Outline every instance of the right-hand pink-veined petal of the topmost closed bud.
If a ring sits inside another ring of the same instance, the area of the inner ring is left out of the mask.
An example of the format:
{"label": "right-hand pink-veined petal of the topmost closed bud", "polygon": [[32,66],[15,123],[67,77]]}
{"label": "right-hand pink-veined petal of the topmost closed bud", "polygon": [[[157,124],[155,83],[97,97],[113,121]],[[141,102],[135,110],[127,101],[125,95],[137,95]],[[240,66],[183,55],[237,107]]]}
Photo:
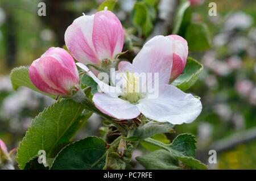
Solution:
{"label": "right-hand pink-veined petal of the topmost closed bud", "polygon": [[122,24],[113,12],[99,11],[94,16],[93,44],[98,58],[113,59],[123,49]]}

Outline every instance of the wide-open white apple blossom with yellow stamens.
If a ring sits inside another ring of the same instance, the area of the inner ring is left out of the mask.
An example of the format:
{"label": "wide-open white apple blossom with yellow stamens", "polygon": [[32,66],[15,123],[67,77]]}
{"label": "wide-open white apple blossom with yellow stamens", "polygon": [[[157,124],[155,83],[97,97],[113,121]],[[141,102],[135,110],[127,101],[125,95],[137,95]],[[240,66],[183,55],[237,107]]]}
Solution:
{"label": "wide-open white apple blossom with yellow stamens", "polygon": [[[133,64],[121,62],[118,68],[122,75],[121,82],[125,84],[120,87],[101,82],[85,65],[77,63],[103,91],[94,94],[95,106],[101,112],[119,120],[133,119],[141,113],[148,119],[168,121],[172,124],[191,123],[195,120],[202,109],[200,100],[192,94],[185,94],[175,86],[168,85],[175,52],[173,45],[170,37],[155,36],[143,46]],[[139,81],[137,75],[141,73],[158,73],[159,79],[154,77],[147,78],[146,82]],[[159,83],[158,90],[154,90],[159,92],[157,98],[150,98],[151,92],[148,89],[146,92],[137,89],[150,83]],[[111,89],[113,87],[115,89]],[[130,87],[132,89],[129,89]],[[107,88],[115,91],[108,91]]]}

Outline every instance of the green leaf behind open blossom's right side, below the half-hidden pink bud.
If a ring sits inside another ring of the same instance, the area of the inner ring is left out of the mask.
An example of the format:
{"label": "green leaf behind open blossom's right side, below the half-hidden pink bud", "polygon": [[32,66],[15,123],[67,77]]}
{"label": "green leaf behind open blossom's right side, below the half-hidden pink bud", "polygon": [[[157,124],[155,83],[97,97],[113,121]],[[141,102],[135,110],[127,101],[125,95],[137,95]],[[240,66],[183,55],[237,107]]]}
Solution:
{"label": "green leaf behind open blossom's right side, below the half-hidden pink bud", "polygon": [[187,64],[183,70],[184,73],[177,77],[171,84],[185,91],[197,81],[201,70],[203,70],[203,65],[195,59],[188,57]]}

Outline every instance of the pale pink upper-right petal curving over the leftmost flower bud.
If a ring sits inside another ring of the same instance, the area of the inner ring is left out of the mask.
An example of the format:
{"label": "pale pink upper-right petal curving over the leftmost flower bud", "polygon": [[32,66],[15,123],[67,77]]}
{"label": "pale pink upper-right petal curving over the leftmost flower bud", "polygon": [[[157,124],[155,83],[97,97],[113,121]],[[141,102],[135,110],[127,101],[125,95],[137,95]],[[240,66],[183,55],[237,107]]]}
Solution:
{"label": "pale pink upper-right petal curving over the leftmost flower bud", "polygon": [[73,57],[63,48],[51,47],[46,51],[46,53],[42,55],[42,57],[45,57],[45,56],[54,57],[57,61],[60,62],[61,65],[71,70],[72,73],[76,75],[77,78],[79,78],[79,74],[76,68],[75,61],[73,60]]}

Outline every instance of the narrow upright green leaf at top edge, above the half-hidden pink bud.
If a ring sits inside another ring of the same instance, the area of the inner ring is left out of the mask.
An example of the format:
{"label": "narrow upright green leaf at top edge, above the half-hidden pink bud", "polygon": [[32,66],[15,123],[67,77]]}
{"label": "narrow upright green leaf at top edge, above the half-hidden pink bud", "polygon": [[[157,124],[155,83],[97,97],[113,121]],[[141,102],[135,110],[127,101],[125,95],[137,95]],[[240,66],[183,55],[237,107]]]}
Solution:
{"label": "narrow upright green leaf at top edge, above the half-hidden pink bud", "polygon": [[[184,23],[186,24],[187,21],[190,21],[189,13],[187,16],[185,16],[186,11],[189,11],[189,7],[190,7],[189,1],[187,1],[187,0],[181,1],[180,5],[178,7],[178,10],[177,10],[177,14],[175,15],[175,21],[174,21],[174,27],[173,27],[172,34],[178,34],[181,29],[181,24],[184,25]],[[184,23],[183,23],[183,20],[184,20]]]}

